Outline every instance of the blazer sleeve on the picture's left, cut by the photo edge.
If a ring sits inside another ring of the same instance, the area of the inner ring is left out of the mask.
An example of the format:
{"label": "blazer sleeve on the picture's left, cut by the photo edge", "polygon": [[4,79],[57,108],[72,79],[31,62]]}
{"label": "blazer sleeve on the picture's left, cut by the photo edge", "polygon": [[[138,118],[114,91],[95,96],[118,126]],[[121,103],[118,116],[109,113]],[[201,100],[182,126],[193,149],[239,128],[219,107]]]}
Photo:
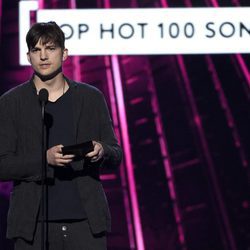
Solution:
{"label": "blazer sleeve on the picture's left, cut by the photo edge", "polygon": [[14,102],[13,98],[0,98],[0,180],[40,180],[41,152],[18,152]]}

